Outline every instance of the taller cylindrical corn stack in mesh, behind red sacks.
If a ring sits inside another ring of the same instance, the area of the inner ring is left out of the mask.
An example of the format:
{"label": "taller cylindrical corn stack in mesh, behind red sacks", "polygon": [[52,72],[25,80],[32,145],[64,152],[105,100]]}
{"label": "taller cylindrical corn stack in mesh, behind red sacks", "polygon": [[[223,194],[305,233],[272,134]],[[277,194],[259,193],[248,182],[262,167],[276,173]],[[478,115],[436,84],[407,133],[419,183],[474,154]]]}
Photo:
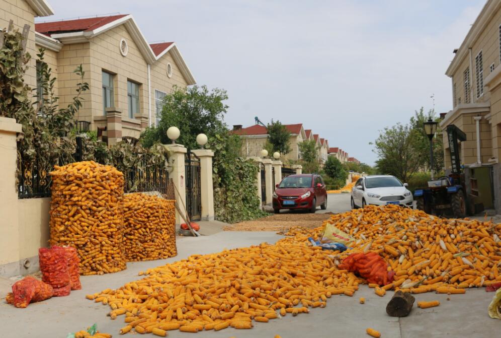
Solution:
{"label": "taller cylindrical corn stack in mesh, behind red sacks", "polygon": [[82,275],[125,269],[123,174],[94,161],[54,168],[50,245],[76,248]]}

